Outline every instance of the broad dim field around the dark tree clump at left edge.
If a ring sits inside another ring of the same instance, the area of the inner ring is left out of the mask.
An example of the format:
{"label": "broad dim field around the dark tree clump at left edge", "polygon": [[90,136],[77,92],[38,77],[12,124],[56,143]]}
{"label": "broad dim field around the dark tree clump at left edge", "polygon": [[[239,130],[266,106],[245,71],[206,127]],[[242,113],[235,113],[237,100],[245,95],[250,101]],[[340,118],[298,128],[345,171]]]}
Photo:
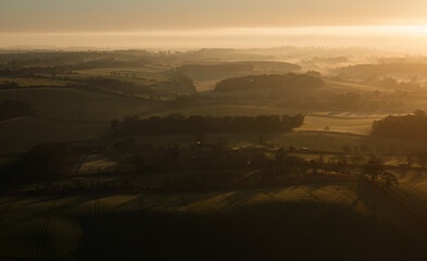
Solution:
{"label": "broad dim field around the dark tree clump at left edge", "polygon": [[0,153],[24,152],[45,141],[77,141],[109,130],[110,122],[159,108],[150,101],[70,88],[0,90],[0,102],[22,100],[36,115],[0,122]]}

